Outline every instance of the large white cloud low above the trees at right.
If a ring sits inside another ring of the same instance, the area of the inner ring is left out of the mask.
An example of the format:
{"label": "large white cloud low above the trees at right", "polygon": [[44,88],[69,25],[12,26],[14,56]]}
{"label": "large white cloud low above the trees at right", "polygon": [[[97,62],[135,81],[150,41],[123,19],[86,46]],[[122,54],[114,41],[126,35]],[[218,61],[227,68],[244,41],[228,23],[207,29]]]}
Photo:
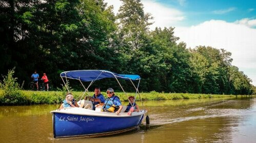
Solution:
{"label": "large white cloud low above the trees at right", "polygon": [[238,66],[256,85],[256,29],[210,20],[197,26],[176,27],[175,35],[186,42],[187,47],[206,45],[231,52],[232,65]]}

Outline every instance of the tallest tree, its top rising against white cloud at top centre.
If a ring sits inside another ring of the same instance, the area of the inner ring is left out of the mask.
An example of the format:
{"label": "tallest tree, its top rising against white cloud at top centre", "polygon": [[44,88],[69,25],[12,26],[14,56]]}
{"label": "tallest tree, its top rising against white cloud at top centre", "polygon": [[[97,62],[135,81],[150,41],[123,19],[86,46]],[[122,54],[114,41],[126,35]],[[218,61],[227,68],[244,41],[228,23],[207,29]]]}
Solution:
{"label": "tallest tree, its top rising against white cloud at top centre", "polygon": [[[129,45],[130,50],[140,49],[148,33],[149,22],[152,17],[143,10],[140,0],[121,0],[123,5],[119,9],[117,18],[120,20],[120,37]],[[127,50],[127,49],[126,49]]]}

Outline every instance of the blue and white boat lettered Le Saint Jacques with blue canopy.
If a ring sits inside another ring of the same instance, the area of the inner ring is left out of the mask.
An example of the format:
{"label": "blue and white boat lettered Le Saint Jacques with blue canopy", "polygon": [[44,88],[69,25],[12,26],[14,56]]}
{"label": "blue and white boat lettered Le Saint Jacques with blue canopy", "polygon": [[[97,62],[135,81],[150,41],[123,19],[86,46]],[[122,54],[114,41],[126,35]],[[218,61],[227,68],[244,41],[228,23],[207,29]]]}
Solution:
{"label": "blue and white boat lettered Le Saint Jacques with blue canopy", "polygon": [[[119,79],[130,81],[136,90],[135,99],[137,95],[140,96],[138,88],[141,78],[139,75],[120,75],[108,70],[72,70],[64,71],[60,76],[67,89],[68,86],[65,79],[66,81],[67,79],[80,81],[85,89],[82,97],[85,93],[89,94],[88,88],[94,81],[104,78],[114,78],[123,91],[124,89]],[[136,86],[134,81],[137,81]],[[83,82],[90,82],[90,84],[86,88]],[[126,94],[125,91],[124,93]],[[126,107],[124,106],[124,108]],[[114,112],[102,112],[101,110],[78,107],[53,110],[50,112],[52,114],[53,136],[54,138],[99,137],[123,133],[139,128],[144,115],[147,113],[147,110],[140,110],[140,112],[132,112],[131,115],[128,115],[122,111],[117,115]]]}

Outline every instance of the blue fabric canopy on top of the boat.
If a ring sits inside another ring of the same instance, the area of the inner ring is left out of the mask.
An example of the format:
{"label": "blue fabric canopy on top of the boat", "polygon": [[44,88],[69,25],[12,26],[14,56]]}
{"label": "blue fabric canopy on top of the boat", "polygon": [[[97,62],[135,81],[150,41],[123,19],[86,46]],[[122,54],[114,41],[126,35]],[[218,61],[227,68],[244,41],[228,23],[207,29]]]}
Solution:
{"label": "blue fabric canopy on top of the boat", "polygon": [[124,80],[140,80],[141,77],[139,75],[119,75],[112,73],[107,70],[72,70],[72,71],[64,71],[61,73],[61,77],[67,77],[70,79],[76,79],[81,81],[94,81],[100,80],[104,78],[119,78]]}

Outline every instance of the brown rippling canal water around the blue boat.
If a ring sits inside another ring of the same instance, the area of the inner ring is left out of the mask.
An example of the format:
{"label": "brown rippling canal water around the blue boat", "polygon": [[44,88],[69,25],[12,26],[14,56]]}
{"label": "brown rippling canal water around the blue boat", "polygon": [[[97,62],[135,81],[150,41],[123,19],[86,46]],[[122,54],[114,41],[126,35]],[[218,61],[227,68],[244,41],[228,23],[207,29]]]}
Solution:
{"label": "brown rippling canal water around the blue boat", "polygon": [[136,131],[75,139],[53,138],[49,112],[59,105],[1,106],[0,142],[256,142],[256,98],[148,101],[144,106],[150,126],[144,119]]}

